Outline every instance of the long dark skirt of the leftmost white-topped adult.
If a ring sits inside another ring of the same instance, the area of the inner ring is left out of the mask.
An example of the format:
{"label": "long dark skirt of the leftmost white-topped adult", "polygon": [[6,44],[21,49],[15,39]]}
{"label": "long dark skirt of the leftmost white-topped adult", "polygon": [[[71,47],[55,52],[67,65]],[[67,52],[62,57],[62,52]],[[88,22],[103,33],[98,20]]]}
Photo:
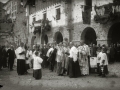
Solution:
{"label": "long dark skirt of the leftmost white-topped adult", "polygon": [[25,60],[18,59],[17,60],[17,73],[18,73],[18,75],[24,75],[25,72],[26,72]]}

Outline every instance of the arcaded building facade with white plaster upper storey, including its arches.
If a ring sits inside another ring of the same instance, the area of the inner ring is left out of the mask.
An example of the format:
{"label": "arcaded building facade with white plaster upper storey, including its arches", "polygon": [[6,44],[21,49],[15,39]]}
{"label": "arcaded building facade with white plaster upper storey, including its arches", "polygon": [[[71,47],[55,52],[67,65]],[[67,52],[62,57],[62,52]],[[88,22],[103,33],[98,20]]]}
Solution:
{"label": "arcaded building facade with white plaster upper storey, including its arches", "polygon": [[[28,0],[29,1],[29,0]],[[33,0],[34,1],[34,0]],[[109,21],[107,23],[95,22],[95,6],[107,5],[113,3],[114,0],[35,0],[35,7],[26,4],[26,9],[29,9],[29,43],[41,44],[42,40],[52,43],[53,41],[64,42],[67,38],[69,41],[74,41],[79,44],[80,40],[85,40],[87,44],[106,44],[117,43],[119,38],[114,32],[115,24],[119,26],[119,20]],[[83,23],[83,7],[87,6],[86,3],[91,3],[90,23]],[[60,9],[60,19],[57,20],[57,9]],[[28,11],[28,10],[26,10]],[[44,19],[44,14],[50,21],[51,30],[46,31],[44,36],[42,34],[33,34],[35,27],[33,22]],[[111,30],[112,29],[112,30]],[[119,32],[119,31],[118,31]],[[115,32],[114,32],[115,33]],[[114,36],[116,36],[114,38]],[[33,39],[33,37],[36,37]],[[47,37],[47,38],[46,38]]]}

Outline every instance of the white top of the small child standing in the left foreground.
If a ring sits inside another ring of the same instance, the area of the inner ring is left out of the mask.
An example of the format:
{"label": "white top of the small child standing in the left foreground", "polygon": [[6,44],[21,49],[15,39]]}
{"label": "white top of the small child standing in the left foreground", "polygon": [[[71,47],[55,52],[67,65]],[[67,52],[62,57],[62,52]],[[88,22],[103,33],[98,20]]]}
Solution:
{"label": "white top of the small child standing in the left foreground", "polygon": [[36,70],[36,69],[41,69],[41,63],[43,62],[43,59],[38,57],[38,56],[34,56],[33,57],[33,69]]}

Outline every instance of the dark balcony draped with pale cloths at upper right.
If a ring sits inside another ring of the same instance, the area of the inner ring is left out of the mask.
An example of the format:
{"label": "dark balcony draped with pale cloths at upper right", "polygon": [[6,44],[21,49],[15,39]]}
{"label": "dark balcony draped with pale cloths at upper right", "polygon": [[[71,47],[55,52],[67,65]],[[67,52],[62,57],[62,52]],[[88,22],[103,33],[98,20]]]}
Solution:
{"label": "dark balcony draped with pale cloths at upper right", "polygon": [[94,20],[99,23],[107,23],[109,20],[115,20],[120,18],[120,5],[114,3],[95,6],[96,15]]}

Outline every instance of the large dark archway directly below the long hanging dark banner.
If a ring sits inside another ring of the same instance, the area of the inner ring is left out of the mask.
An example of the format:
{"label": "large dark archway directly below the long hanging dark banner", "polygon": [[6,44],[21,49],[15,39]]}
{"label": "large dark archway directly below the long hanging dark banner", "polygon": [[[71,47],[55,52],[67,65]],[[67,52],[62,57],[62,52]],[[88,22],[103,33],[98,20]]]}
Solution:
{"label": "large dark archway directly below the long hanging dark banner", "polygon": [[85,41],[87,45],[93,43],[97,44],[95,30],[91,27],[87,27],[83,30],[81,39]]}

